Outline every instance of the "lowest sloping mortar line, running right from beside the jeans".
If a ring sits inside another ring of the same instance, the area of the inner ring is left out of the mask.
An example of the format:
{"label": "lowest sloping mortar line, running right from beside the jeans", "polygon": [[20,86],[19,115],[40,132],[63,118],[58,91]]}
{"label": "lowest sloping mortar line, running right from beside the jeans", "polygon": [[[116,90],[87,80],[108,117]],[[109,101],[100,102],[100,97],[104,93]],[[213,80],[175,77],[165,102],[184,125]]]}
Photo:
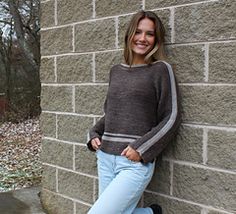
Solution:
{"label": "lowest sloping mortar line, running right from beside the jeans", "polygon": [[158,195],[158,196],[161,196],[161,197],[164,197],[164,198],[168,198],[168,199],[171,199],[171,200],[176,200],[176,201],[179,201],[179,202],[184,202],[184,203],[187,203],[187,204],[191,204],[191,205],[199,206],[199,207],[202,207],[202,208],[210,209],[212,211],[223,212],[225,214],[233,214],[233,213],[231,213],[229,211],[226,211],[226,210],[217,209],[217,208],[205,205],[205,204],[200,204],[200,203],[196,203],[196,202],[193,202],[193,201],[188,201],[186,199],[177,198],[175,196],[165,195],[163,193],[157,193],[157,192],[154,192],[154,191],[151,191],[151,190],[145,190],[145,192],[151,193],[153,195]]}

